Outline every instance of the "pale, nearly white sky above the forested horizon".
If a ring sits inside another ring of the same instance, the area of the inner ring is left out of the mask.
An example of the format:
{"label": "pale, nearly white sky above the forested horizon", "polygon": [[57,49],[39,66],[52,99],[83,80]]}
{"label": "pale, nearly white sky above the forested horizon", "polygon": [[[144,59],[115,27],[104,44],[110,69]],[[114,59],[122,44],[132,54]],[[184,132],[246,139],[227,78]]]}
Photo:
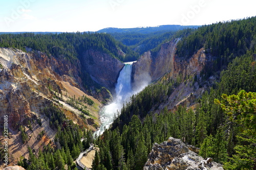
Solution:
{"label": "pale, nearly white sky above the forested horizon", "polygon": [[254,0],[0,0],[0,32],[208,25],[256,16]]}

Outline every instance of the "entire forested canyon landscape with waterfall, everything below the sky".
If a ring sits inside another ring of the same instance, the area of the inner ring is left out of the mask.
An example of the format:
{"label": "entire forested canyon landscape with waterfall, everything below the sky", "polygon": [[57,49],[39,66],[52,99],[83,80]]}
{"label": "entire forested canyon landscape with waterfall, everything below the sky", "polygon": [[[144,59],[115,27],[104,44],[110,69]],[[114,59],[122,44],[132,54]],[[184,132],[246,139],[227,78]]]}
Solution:
{"label": "entire forested canyon landscape with waterfall, everything below the sky", "polygon": [[9,165],[254,169],[255,25],[0,35]]}

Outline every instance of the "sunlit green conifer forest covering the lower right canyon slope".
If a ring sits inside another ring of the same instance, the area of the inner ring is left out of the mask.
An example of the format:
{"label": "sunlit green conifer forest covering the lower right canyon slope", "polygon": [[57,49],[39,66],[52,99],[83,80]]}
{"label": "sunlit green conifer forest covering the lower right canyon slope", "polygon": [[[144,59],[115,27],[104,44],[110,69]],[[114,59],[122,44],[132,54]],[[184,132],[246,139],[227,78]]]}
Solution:
{"label": "sunlit green conifer forest covering the lower right canyon slope", "polygon": [[[248,53],[234,59],[228,69],[222,71],[220,83],[216,88],[204,93],[202,99],[197,102],[195,111],[179,107],[176,112],[170,112],[165,108],[159,115],[147,112],[163,102],[177,84],[164,82],[146,87],[132,97],[131,102],[126,104],[115,120],[112,129],[105,131],[102,140],[97,141],[101,149],[97,167],[118,169],[125,166],[126,169],[142,169],[152,144],[173,136],[187,144],[200,147],[201,156],[212,157],[215,161],[224,163],[227,169],[255,168],[255,93],[239,92],[241,89],[255,92],[255,80],[255,56],[253,58],[253,55]],[[225,95],[221,98],[223,93]],[[227,96],[230,94],[238,95]],[[239,114],[236,112],[227,114],[226,110],[230,111],[228,107],[241,107],[230,100],[242,100],[241,95],[248,95],[244,99],[244,105],[248,105],[248,108],[244,109],[247,110],[241,111],[241,115],[236,115]],[[230,104],[224,106],[228,99]],[[241,120],[233,118],[237,116],[244,116],[247,126],[250,127],[248,132]],[[246,149],[246,154],[241,155]],[[112,155],[111,159],[108,158],[112,160],[112,166],[107,164],[110,161],[106,159],[108,154]],[[239,163],[240,160],[246,164]],[[97,167],[95,169],[100,169]]]}

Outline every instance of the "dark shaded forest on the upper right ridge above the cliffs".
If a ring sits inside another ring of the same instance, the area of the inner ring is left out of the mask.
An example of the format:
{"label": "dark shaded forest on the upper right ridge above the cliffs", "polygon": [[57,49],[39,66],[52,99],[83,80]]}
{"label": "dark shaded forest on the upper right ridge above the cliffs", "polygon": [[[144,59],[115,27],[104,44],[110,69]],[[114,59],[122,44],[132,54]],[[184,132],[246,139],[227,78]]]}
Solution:
{"label": "dark shaded forest on the upper right ridge above the cliffs", "polygon": [[202,26],[178,42],[176,54],[188,58],[204,47],[206,53],[218,57],[212,72],[218,71],[248,50],[255,53],[255,22],[255,17],[250,17]]}

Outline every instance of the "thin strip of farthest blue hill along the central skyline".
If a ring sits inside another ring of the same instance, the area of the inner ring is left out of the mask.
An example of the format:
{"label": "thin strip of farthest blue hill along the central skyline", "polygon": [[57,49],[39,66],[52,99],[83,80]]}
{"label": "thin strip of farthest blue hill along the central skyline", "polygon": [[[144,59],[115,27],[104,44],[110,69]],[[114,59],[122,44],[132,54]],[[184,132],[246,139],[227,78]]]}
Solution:
{"label": "thin strip of farthest blue hill along the central skyline", "polygon": [[99,33],[131,33],[137,32],[141,34],[150,34],[158,31],[178,31],[187,28],[199,28],[200,26],[180,26],[180,25],[163,25],[158,27],[142,27],[142,28],[105,28],[99,30]]}

